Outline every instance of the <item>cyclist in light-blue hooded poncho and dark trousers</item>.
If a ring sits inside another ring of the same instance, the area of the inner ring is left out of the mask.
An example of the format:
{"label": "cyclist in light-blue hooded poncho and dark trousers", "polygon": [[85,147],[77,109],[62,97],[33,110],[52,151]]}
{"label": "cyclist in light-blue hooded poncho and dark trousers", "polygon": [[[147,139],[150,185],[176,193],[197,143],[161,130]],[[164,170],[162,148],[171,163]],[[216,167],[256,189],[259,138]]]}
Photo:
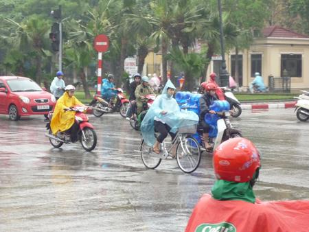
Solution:
{"label": "cyclist in light-blue hooded poncho and dark trousers", "polygon": [[[191,111],[180,111],[179,105],[173,98],[176,87],[170,80],[166,82],[162,94],[156,98],[141,122],[141,135],[154,152],[159,154],[160,143],[171,135],[172,140],[181,126],[198,123],[198,115]],[[155,131],[159,137],[155,138]]]}

